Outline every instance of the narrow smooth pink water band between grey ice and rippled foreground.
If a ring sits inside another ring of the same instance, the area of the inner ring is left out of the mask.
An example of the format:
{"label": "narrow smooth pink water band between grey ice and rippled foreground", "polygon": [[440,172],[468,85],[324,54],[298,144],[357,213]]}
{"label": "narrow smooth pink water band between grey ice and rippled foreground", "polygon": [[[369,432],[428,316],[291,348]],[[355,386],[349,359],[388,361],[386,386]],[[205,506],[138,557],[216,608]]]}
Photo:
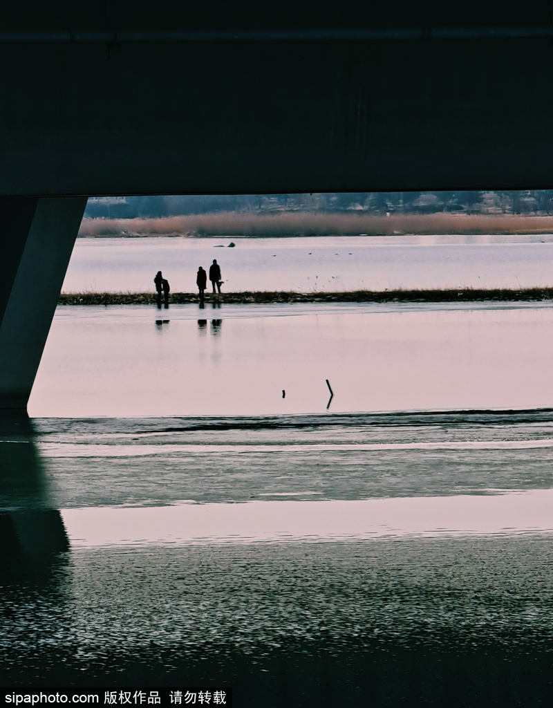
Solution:
{"label": "narrow smooth pink water band between grey ice and rippled foreground", "polygon": [[296,501],[293,492],[260,496],[264,501],[242,504],[64,509],[63,518],[76,548],[502,537],[553,530],[551,489],[355,501]]}

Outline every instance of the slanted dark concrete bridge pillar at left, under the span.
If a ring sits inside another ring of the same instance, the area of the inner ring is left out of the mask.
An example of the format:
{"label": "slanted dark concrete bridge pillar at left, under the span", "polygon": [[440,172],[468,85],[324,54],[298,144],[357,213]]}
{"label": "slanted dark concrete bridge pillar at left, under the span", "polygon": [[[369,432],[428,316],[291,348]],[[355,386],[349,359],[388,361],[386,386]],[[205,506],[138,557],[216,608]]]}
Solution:
{"label": "slanted dark concrete bridge pillar at left, under the span", "polygon": [[0,409],[26,409],[86,197],[0,199]]}

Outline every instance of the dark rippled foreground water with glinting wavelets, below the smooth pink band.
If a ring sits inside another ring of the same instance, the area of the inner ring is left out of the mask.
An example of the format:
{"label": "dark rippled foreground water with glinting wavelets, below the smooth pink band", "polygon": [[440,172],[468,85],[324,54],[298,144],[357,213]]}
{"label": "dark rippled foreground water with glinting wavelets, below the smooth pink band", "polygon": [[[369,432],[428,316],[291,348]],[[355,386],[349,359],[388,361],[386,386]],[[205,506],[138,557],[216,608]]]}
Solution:
{"label": "dark rippled foreground water with glinting wavelets, below the smooth pink band", "polygon": [[348,641],[553,649],[550,539],[416,539],[305,546],[96,549],[43,586],[4,577],[4,670],[20,651],[125,646],[255,654]]}

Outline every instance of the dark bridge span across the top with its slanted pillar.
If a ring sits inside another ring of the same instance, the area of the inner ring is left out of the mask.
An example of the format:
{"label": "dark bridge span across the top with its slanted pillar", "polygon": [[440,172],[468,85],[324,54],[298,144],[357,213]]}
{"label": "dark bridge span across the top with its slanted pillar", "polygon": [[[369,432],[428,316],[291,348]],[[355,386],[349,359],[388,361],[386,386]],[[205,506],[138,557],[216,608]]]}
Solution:
{"label": "dark bridge span across the top with its slanted pillar", "polygon": [[2,8],[0,406],[26,406],[87,195],[550,187],[553,25],[543,0],[520,16]]}

